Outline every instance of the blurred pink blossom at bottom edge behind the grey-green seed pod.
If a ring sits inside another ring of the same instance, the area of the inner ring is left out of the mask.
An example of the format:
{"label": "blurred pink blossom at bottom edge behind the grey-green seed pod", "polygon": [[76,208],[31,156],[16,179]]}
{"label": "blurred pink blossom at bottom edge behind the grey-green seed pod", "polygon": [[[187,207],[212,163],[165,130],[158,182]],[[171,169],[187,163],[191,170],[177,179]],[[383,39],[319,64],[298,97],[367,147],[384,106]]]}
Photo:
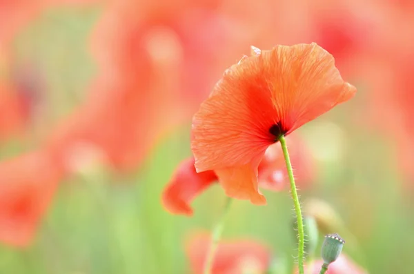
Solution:
{"label": "blurred pink blossom at bottom edge behind the grey-green seed pod", "polygon": [[[323,260],[317,260],[313,264],[312,274],[319,274],[321,266],[324,263]],[[295,273],[298,273],[297,269]],[[358,266],[346,255],[339,255],[337,260],[329,265],[327,274],[368,274],[364,268]]]}

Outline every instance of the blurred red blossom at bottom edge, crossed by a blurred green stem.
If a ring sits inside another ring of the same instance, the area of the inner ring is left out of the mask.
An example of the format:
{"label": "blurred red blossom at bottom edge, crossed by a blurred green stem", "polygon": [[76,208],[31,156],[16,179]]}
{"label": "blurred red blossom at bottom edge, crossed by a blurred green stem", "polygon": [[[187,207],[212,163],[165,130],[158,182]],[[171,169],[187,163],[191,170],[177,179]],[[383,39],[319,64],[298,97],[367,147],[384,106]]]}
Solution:
{"label": "blurred red blossom at bottom edge, crossed by a blurred green stem", "polygon": [[[194,274],[203,273],[210,235],[199,233],[186,243],[186,254]],[[264,273],[271,260],[268,246],[250,239],[221,241],[211,268],[212,274]]]}

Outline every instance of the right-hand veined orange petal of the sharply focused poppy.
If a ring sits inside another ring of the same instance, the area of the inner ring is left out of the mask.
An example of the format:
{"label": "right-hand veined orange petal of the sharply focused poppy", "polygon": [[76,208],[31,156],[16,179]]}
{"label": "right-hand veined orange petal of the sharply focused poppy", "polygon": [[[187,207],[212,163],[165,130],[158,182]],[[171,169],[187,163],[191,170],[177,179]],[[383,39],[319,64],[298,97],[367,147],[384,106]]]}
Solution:
{"label": "right-hand veined orange petal of the sharply focused poppy", "polygon": [[316,43],[278,46],[264,51],[268,59],[272,100],[284,128],[291,133],[357,91],[335,67],[335,59]]}

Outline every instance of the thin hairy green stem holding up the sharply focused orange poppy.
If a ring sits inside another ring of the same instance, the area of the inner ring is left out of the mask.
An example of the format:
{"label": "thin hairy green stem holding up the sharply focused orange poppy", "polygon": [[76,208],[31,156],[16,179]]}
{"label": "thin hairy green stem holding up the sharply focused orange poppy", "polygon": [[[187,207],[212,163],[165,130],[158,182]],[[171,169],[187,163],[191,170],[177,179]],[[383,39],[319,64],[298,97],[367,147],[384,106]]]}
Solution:
{"label": "thin hairy green stem holding up the sharply focused orange poppy", "polygon": [[286,162],[286,168],[288,170],[289,182],[290,182],[290,193],[292,195],[293,204],[295,204],[295,213],[297,219],[297,233],[299,239],[299,246],[297,251],[297,264],[299,268],[299,274],[304,274],[304,222],[302,219],[302,212],[300,210],[299,197],[297,196],[297,190],[295,185],[295,178],[293,177],[293,168],[290,163],[290,157],[288,153],[288,146],[286,146],[286,139],[282,135],[279,138],[280,145],[282,146],[283,155]]}

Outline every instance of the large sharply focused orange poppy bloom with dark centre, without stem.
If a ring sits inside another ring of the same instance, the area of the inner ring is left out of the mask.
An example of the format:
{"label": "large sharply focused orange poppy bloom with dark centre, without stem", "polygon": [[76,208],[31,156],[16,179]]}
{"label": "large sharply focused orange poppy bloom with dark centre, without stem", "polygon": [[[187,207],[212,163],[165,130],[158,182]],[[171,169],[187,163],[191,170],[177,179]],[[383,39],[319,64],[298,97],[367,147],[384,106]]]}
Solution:
{"label": "large sharply focused orange poppy bloom with dark centre, without stem", "polygon": [[226,194],[265,204],[257,166],[266,148],[337,104],[355,87],[315,43],[277,46],[224,73],[193,119],[197,172],[214,170]]}

